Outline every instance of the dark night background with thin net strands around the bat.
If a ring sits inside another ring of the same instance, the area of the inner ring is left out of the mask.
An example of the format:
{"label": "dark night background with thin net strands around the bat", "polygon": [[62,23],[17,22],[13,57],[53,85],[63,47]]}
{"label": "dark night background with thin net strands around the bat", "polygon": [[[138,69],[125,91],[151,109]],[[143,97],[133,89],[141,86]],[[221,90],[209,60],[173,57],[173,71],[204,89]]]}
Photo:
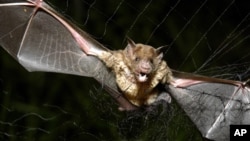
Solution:
{"label": "dark night background with thin net strands around the bat", "polygon": [[[124,48],[129,36],[155,47],[169,45],[165,60],[173,69],[232,80],[249,78],[247,3],[49,3],[110,49]],[[2,48],[0,68],[1,140],[201,140],[175,102],[167,111],[159,106],[153,114],[119,112],[91,78],[27,72]]]}

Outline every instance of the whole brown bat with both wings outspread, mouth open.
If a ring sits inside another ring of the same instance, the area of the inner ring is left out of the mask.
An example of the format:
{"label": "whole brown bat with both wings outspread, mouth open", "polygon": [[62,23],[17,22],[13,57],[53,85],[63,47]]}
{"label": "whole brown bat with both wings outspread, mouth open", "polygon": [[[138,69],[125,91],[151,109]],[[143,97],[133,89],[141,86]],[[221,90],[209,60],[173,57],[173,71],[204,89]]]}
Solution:
{"label": "whole brown bat with both wings outspread, mouth open", "polygon": [[209,139],[229,140],[230,124],[250,124],[246,83],[170,71],[161,53],[147,45],[129,42],[147,49],[110,51],[42,0],[0,2],[0,46],[29,71],[92,77],[125,110],[136,109],[131,102],[154,102],[161,92],[156,86],[163,84]]}

